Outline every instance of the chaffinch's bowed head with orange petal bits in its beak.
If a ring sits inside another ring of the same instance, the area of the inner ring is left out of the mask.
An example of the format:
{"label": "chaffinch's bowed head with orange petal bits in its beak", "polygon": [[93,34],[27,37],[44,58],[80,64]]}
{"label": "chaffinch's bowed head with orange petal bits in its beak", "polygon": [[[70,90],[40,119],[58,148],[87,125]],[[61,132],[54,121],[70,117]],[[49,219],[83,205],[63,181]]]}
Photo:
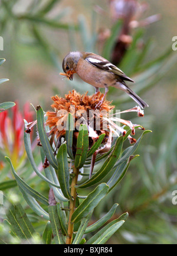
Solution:
{"label": "chaffinch's bowed head with orange petal bits in its beak", "polygon": [[80,52],[70,52],[63,59],[63,71],[70,80],[73,80],[73,75],[76,73],[77,62],[80,57]]}

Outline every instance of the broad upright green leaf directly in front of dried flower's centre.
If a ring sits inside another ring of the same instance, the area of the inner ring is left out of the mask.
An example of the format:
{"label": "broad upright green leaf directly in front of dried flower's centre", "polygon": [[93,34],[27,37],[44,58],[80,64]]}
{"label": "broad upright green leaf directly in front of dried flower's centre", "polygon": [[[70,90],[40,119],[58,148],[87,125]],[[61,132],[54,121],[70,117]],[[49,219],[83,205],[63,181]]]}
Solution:
{"label": "broad upright green leaf directly in front of dried flower's centre", "polygon": [[86,161],[89,148],[89,133],[86,124],[81,124],[79,127],[76,148],[77,150],[74,165],[76,168],[81,168]]}

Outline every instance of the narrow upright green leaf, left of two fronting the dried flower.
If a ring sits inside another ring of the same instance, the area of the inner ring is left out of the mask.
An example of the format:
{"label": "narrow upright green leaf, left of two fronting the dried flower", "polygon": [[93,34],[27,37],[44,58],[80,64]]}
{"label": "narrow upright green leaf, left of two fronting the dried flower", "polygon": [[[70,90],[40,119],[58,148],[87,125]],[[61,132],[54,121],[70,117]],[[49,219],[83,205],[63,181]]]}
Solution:
{"label": "narrow upright green leaf, left of two fronting the dried flower", "polygon": [[65,140],[67,142],[67,153],[71,159],[74,159],[74,157],[73,157],[73,130],[74,130],[73,116],[71,115],[71,113],[68,113],[67,130],[65,132]]}

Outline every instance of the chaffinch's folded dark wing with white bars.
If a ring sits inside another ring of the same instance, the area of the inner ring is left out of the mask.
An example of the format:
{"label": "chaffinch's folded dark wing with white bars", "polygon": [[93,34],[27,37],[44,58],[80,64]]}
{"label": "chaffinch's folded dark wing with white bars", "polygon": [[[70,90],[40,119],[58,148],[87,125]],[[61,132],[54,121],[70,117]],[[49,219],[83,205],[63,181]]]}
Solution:
{"label": "chaffinch's folded dark wing with white bars", "polygon": [[119,68],[117,68],[115,65],[110,63],[107,59],[104,59],[103,57],[99,55],[95,55],[91,53],[90,55],[87,55],[85,58],[87,62],[89,62],[91,65],[96,66],[99,69],[102,69],[104,71],[112,72],[115,75],[120,76],[123,80],[134,82],[132,79],[130,79],[128,76],[126,76]]}

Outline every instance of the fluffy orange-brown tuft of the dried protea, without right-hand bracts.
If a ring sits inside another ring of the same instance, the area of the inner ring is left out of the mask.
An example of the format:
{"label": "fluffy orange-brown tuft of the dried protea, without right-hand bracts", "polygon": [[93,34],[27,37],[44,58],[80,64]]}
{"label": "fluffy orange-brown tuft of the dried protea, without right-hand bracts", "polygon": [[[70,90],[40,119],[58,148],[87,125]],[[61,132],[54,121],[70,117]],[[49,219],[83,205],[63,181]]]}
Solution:
{"label": "fluffy orange-brown tuft of the dried protea, without right-hand bracts", "polygon": [[58,146],[60,146],[61,138],[65,136],[67,129],[68,113],[71,113],[74,120],[73,155],[76,151],[78,130],[81,123],[86,124],[89,131],[89,148],[91,148],[102,133],[106,134],[103,139],[103,144],[106,144],[109,138],[110,127],[103,119],[103,116],[109,113],[114,106],[109,101],[104,100],[99,109],[97,109],[96,105],[102,100],[103,95],[100,92],[90,96],[87,93],[81,95],[73,90],[65,94],[64,98],[58,97],[58,95],[51,97],[54,101],[51,105],[54,111],[46,113],[46,125],[51,128],[51,143],[53,143],[54,137],[56,137]]}

